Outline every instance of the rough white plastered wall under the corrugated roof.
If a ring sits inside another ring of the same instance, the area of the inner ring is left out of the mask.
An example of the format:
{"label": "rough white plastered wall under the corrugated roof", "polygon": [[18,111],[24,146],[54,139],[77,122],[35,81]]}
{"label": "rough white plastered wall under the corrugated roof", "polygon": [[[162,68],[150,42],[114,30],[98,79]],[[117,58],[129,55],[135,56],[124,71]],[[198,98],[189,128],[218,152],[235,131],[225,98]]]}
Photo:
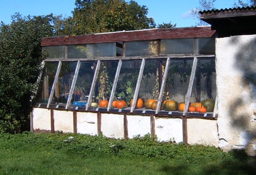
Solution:
{"label": "rough white plastered wall under the corrugated roof", "polygon": [[256,35],[216,39],[219,147],[256,155]]}

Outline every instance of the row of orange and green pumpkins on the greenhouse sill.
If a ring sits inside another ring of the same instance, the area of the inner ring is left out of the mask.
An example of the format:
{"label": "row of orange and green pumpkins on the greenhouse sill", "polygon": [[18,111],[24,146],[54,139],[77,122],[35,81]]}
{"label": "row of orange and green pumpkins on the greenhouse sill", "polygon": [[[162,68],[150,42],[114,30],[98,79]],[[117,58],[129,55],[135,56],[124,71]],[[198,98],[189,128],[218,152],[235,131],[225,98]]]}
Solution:
{"label": "row of orange and green pumpkins on the greenhouse sill", "polygon": [[[131,100],[131,105],[133,104],[133,100]],[[191,103],[189,105],[189,112],[199,112],[206,113],[212,112],[214,109],[214,101],[212,99],[206,99],[201,103]],[[115,100],[112,102],[112,107],[117,109],[124,109],[127,106],[124,100]],[[136,108],[143,108],[145,106],[146,109],[157,109],[157,101],[154,99],[147,99],[145,102],[141,98],[137,99],[135,104]],[[108,107],[108,100],[102,100],[99,102],[99,107]],[[183,112],[185,108],[185,103],[177,103],[174,100],[165,100],[160,107],[160,110],[167,111],[180,111]]]}

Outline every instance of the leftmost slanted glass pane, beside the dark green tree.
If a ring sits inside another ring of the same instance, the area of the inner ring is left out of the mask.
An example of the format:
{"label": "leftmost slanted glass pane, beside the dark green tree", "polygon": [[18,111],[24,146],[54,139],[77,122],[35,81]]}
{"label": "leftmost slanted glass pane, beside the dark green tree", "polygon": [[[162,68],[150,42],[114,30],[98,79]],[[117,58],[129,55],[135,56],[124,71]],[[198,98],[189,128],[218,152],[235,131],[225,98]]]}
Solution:
{"label": "leftmost slanted glass pane, beside the dark green tree", "polygon": [[35,102],[47,104],[52,90],[58,62],[45,62],[43,73],[39,82]]}

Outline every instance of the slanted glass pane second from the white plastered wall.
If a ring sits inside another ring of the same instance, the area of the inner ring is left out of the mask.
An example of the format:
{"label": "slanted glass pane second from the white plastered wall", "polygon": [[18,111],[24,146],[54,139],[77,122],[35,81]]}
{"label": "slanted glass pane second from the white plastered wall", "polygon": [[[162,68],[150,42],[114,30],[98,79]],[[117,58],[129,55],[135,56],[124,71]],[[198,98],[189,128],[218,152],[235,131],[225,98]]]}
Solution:
{"label": "slanted glass pane second from the white plastered wall", "polygon": [[[172,59],[169,65],[166,85],[163,92],[163,101],[172,100],[172,106],[162,110],[177,111],[177,104],[185,102],[192,71],[193,59]],[[165,102],[166,103],[166,102]],[[171,102],[170,102],[171,103]],[[183,111],[180,111],[183,112]]]}

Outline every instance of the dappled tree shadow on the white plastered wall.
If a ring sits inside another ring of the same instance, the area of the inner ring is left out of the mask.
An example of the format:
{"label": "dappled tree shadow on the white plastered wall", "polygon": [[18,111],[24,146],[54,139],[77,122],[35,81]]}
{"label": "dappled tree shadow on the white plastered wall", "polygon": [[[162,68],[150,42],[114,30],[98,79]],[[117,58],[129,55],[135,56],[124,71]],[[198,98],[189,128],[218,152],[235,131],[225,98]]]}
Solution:
{"label": "dappled tree shadow on the white plastered wall", "polygon": [[[236,65],[233,65],[242,73],[241,88],[250,92],[235,99],[229,109],[232,127],[243,131],[240,137],[246,145],[248,155],[256,155],[256,35],[254,36],[237,50],[234,63]],[[230,44],[240,43],[242,37],[248,36],[233,37]],[[253,113],[248,109],[252,109]]]}

